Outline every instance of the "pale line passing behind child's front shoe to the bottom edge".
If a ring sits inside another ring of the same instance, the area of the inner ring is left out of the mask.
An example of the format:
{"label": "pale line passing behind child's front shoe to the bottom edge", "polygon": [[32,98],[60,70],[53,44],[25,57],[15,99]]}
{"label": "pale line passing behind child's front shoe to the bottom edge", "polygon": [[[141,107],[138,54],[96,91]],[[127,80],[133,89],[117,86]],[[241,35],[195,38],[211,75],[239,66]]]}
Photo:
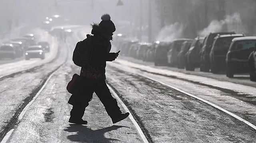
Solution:
{"label": "pale line passing behind child's front shoe to the bottom edge", "polygon": [[[107,84],[108,85],[108,84]],[[135,128],[137,129],[138,133],[140,134],[140,137],[142,139],[142,141],[144,143],[148,143],[147,138],[145,137],[144,133],[142,132],[142,130],[140,129],[140,126],[138,125],[138,123],[135,121],[135,119],[133,118],[131,112],[129,111],[129,109],[126,107],[126,105],[124,104],[124,102],[122,102],[122,100],[119,98],[119,96],[116,94],[116,92],[114,92],[114,90],[108,85],[108,88],[110,90],[110,92],[115,96],[115,98],[118,100],[118,102],[123,106],[124,110],[126,112],[129,112],[129,118],[132,121],[133,125],[135,126]]]}

